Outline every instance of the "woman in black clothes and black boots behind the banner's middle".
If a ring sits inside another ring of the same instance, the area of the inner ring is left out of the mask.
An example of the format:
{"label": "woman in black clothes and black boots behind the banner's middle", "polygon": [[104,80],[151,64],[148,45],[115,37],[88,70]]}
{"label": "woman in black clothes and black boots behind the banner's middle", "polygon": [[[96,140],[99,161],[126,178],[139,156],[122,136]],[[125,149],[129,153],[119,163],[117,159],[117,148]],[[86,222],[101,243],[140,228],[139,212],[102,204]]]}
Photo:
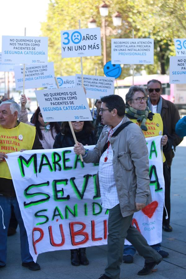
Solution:
{"label": "woman in black clothes and black boots behind the banner's middle", "polygon": [[[78,142],[83,145],[97,144],[97,139],[93,134],[91,121],[71,121],[75,136]],[[74,146],[74,138],[68,122],[63,122],[61,133],[57,134],[53,148],[65,148]],[[88,265],[86,248],[73,249],[71,251],[71,264],[74,266]]]}

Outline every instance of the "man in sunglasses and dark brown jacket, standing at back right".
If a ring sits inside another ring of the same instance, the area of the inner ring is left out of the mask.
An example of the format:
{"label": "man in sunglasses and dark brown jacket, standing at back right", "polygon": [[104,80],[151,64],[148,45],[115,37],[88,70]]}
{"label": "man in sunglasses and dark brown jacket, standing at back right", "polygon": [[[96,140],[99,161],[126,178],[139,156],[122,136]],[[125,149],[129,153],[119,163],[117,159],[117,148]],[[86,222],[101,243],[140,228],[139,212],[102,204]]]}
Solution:
{"label": "man in sunglasses and dark brown jacket, standing at back right", "polygon": [[[159,80],[157,79],[149,80],[147,82],[147,92],[149,95],[148,107],[150,108],[152,113],[159,113],[161,115],[163,126],[166,128],[168,134],[172,138],[172,142],[173,142],[172,148],[168,152],[164,153],[166,157],[168,170],[170,173],[172,159],[175,156],[174,151],[176,150],[176,146],[179,145],[180,142],[183,140],[183,138],[180,138],[175,133],[175,125],[180,119],[179,112],[175,104],[161,97],[162,84]],[[172,232],[172,227],[170,226],[170,183],[167,184],[165,188],[165,206],[168,213],[168,219],[165,219],[166,211],[164,209],[163,229],[166,232]]]}

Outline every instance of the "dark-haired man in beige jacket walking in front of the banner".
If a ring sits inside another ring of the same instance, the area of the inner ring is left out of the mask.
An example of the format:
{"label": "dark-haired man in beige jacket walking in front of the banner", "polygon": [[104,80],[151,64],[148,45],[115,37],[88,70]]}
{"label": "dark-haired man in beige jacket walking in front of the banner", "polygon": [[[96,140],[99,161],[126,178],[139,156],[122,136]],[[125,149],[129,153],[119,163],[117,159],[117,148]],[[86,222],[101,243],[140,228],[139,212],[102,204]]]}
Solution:
{"label": "dark-haired man in beige jacket walking in front of the banner", "polygon": [[120,96],[109,95],[101,100],[100,115],[105,126],[98,143],[93,150],[85,150],[80,143],[74,146],[84,162],[99,163],[97,183],[102,207],[109,209],[108,263],[99,279],[120,278],[125,238],[145,258],[145,266],[138,275],[147,275],[162,257],[131,225],[134,212],[152,201],[146,141],[139,126],[125,116],[125,103]]}

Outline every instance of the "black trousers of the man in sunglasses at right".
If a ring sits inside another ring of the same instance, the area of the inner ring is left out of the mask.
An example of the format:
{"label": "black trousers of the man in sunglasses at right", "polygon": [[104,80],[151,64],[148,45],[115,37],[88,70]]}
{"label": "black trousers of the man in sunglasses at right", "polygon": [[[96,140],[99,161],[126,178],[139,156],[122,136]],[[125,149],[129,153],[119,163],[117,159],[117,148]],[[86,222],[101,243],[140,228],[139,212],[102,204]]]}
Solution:
{"label": "black trousers of the man in sunglasses at right", "polygon": [[163,225],[169,225],[170,223],[170,167],[166,163],[163,164],[163,176],[165,180],[165,207],[168,213],[168,219],[166,217],[166,210],[163,208]]}

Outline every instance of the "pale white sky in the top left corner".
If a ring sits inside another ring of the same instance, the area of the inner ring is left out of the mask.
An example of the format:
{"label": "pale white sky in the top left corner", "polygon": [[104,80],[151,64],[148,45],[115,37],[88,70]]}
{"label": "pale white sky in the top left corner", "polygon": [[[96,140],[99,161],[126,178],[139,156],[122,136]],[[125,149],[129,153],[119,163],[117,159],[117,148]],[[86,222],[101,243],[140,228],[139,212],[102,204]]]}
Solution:
{"label": "pale white sky in the top left corner", "polygon": [[46,21],[50,0],[1,0],[0,52],[2,35],[37,37],[41,34],[40,22]]}

